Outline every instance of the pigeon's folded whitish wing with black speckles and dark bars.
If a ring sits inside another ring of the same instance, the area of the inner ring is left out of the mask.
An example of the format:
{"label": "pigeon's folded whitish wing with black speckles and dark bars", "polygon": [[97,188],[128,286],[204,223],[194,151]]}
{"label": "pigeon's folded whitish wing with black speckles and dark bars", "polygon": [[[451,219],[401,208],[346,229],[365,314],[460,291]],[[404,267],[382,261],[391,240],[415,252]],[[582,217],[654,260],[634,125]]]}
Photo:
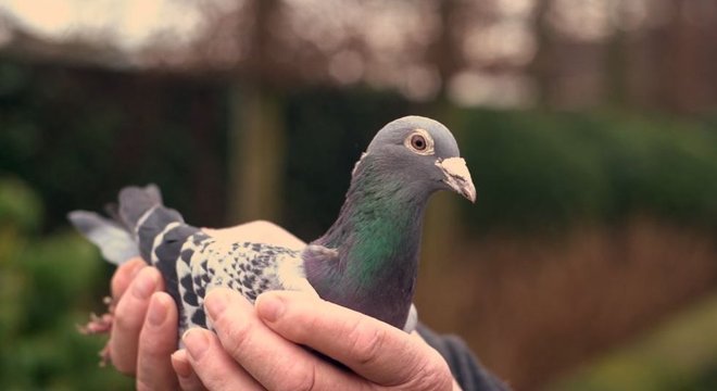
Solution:
{"label": "pigeon's folded whitish wing with black speckles and dark bars", "polygon": [[153,242],[152,264],[165,276],[167,291],[180,308],[180,335],[190,327],[211,328],[203,303],[213,288],[238,291],[252,303],[269,290],[316,294],[305,279],[300,251],[263,243],[226,243],[181,223],[168,224]]}

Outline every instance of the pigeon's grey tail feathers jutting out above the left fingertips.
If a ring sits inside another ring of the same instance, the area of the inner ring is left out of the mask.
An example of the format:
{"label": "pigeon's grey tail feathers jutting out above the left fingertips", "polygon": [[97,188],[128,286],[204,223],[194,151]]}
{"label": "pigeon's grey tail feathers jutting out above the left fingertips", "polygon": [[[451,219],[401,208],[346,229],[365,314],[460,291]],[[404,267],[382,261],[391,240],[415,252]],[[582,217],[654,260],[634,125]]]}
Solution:
{"label": "pigeon's grey tail feathers jutting out above the left fingertips", "polygon": [[112,218],[86,211],[73,211],[67,218],[115,265],[137,255],[151,264],[154,238],[171,224],[184,224],[178,212],[164,207],[154,185],[122,189],[120,204],[108,205],[108,213]]}

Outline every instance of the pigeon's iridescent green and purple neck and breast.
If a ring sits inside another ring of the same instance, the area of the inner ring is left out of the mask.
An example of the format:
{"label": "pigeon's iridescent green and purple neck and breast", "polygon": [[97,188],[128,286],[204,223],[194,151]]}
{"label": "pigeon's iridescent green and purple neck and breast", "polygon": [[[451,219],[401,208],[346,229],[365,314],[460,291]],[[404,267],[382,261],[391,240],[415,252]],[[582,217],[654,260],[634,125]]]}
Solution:
{"label": "pigeon's iridescent green and purple neck and breast", "polygon": [[325,300],[402,328],[413,299],[429,194],[392,175],[362,161],[338,219],[314,242],[338,250],[338,262],[305,260],[305,266]]}

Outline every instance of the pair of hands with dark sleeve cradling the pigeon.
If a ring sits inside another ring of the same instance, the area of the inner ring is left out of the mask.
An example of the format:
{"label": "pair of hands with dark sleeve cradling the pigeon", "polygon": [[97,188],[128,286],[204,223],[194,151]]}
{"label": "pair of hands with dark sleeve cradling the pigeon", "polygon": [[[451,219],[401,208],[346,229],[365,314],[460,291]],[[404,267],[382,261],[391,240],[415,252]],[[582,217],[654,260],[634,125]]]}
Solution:
{"label": "pair of hands with dark sleeve cradling the pigeon", "polygon": [[[288,231],[267,222],[253,222],[209,232],[219,238],[241,236],[251,241],[289,248],[303,244]],[[199,329],[197,331],[200,335],[192,335],[192,330],[184,336],[185,349],[177,350],[177,310],[172,298],[163,291],[163,287],[159,270],[149,267],[140,258],[123,264],[112,278],[116,308],[109,342],[110,360],[120,371],[136,378],[139,390],[301,390],[302,387],[307,387],[306,383],[311,380],[309,370],[314,370],[312,365],[324,360],[313,354],[297,356],[298,349],[294,348],[302,344],[326,356],[330,356],[331,351],[347,352],[344,360],[363,363],[362,367],[366,368],[363,374],[367,377],[361,378],[361,375],[352,374],[353,382],[345,384],[348,388],[339,387],[344,386],[338,383],[339,380],[322,378],[313,380],[314,390],[370,389],[370,386],[393,387],[398,390],[440,390],[441,387],[445,390],[462,388],[466,391],[508,390],[507,386],[483,368],[465,343],[455,337],[437,336],[420,324],[418,332],[406,335],[365,315],[298,292],[271,292],[267,298],[260,297],[259,305],[276,300],[293,310],[285,312],[280,320],[275,320],[276,330],[271,323],[265,326],[253,323],[252,328],[260,328],[260,331],[238,330],[237,327],[246,326],[247,319],[255,321],[259,318],[263,323],[262,316],[266,314],[249,305],[238,293],[222,289],[217,291],[216,298],[219,298],[219,302],[228,298],[230,304],[225,308],[234,307],[223,315],[223,321],[229,326],[229,330],[217,331],[217,335]],[[226,297],[222,298],[225,294]],[[279,295],[269,297],[272,294]],[[213,306],[214,299],[212,292],[207,295],[205,305]],[[293,341],[291,331],[285,331],[282,326],[277,326],[279,324],[303,329],[304,332],[311,333],[309,337],[313,337],[313,340]],[[267,335],[271,336],[267,329],[275,336],[265,339]],[[256,333],[255,337],[248,337],[253,332]],[[237,352],[243,349],[242,343],[247,343],[242,341],[250,338],[256,338],[261,352],[253,352],[255,355]],[[360,348],[356,341],[362,338],[370,346]],[[284,343],[281,339],[291,341],[294,348],[290,348],[290,344]],[[277,345],[269,345],[277,341]],[[203,352],[192,352],[196,349],[201,351],[202,345],[205,346]],[[370,352],[367,353],[366,350]],[[192,353],[200,353],[199,358],[192,357]],[[350,355],[353,357],[349,357]],[[299,360],[309,362],[299,363]],[[350,365],[337,361],[345,366]],[[271,382],[254,380],[250,369],[243,367],[244,362],[249,362],[249,368],[261,370],[256,374],[257,377],[263,378],[268,374]],[[377,370],[372,371],[372,368]],[[390,376],[378,377],[386,374]],[[322,374],[327,377],[331,375],[334,374]],[[306,383],[301,383],[302,381]]]}

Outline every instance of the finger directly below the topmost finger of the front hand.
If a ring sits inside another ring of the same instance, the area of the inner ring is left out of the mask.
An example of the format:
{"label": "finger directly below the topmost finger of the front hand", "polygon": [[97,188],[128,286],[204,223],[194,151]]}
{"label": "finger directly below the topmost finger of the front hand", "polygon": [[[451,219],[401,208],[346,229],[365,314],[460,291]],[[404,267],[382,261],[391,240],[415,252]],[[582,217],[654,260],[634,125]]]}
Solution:
{"label": "finger directly below the topmost finger of the front hand", "polygon": [[224,350],[269,390],[348,390],[362,386],[353,374],[272,331],[257,318],[251,303],[235,291],[212,290],[204,298],[204,307]]}

